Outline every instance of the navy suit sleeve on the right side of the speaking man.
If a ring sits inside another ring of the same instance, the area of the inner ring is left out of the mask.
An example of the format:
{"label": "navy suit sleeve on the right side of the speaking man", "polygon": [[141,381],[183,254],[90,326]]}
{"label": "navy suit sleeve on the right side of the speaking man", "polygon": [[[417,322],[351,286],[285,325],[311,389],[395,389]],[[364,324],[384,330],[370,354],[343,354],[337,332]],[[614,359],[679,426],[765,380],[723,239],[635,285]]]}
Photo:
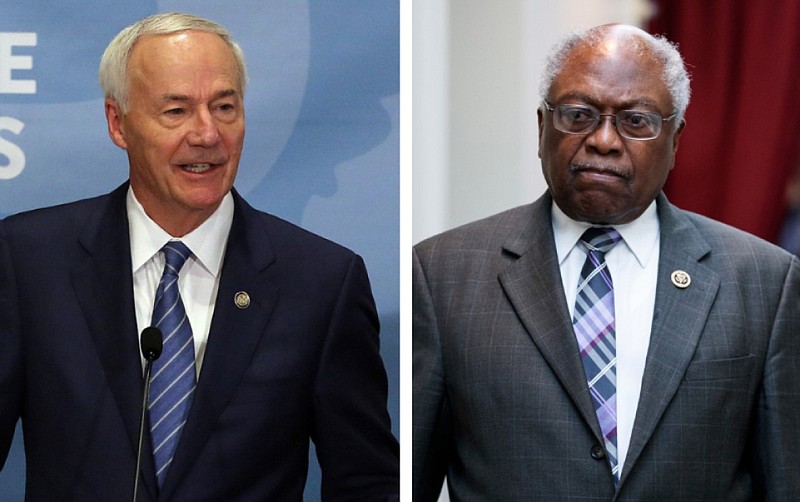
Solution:
{"label": "navy suit sleeve on the right side of the speaking man", "polygon": [[398,500],[399,446],[386,410],[378,315],[354,256],[326,335],[314,389],[323,500]]}

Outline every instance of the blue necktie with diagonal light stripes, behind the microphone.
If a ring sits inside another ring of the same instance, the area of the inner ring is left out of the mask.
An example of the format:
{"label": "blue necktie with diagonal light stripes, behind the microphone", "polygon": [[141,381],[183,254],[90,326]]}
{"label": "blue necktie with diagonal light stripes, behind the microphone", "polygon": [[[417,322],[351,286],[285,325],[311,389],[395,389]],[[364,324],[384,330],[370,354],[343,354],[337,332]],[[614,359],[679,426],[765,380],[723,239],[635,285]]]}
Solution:
{"label": "blue necktie with diagonal light stripes, behind the microphone", "polygon": [[180,241],[161,250],[166,264],[156,290],[153,326],[164,334],[164,351],[153,362],[150,384],[150,433],[158,485],[164,483],[195,388],[192,327],[178,291],[178,272],[192,252]]}

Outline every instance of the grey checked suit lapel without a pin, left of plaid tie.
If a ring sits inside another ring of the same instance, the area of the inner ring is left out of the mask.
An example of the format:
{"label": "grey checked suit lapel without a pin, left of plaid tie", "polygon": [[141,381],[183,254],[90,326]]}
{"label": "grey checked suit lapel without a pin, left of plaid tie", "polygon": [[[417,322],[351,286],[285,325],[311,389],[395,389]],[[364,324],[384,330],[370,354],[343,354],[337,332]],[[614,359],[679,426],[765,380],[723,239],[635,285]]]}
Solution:
{"label": "grey checked suit lapel without a pin, left of plaid tie", "polygon": [[537,200],[523,230],[506,241],[504,250],[517,259],[500,274],[500,284],[531,339],[599,441],[602,433],[562,287],[550,223],[551,204],[549,194]]}

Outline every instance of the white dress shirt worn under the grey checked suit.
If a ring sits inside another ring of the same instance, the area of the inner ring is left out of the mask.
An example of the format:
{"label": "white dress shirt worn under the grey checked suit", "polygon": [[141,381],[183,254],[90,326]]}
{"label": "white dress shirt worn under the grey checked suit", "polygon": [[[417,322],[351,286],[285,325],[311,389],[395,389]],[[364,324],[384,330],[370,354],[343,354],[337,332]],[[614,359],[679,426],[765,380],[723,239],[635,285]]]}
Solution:
{"label": "white dress shirt worn under the grey checked suit", "polygon": [[[553,203],[553,233],[570,317],[586,260],[586,249],[578,241],[590,226],[570,219]],[[639,405],[656,299],[660,232],[655,201],[636,220],[614,228],[622,241],[606,253],[606,264],[614,284],[617,460],[622,474]]]}

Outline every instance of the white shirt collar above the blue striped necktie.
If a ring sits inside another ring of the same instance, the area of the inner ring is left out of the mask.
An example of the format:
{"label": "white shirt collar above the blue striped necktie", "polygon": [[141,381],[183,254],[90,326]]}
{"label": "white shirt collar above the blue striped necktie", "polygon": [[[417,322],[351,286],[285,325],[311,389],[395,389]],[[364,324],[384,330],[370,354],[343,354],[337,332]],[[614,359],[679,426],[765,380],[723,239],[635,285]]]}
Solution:
{"label": "white shirt collar above the blue striped necktie", "polygon": [[[131,240],[131,265],[135,273],[152,259],[164,244],[173,240],[173,237],[144,212],[144,208],[130,187],[128,187],[126,208]],[[222,268],[225,245],[232,223],[233,196],[228,192],[206,221],[180,239],[192,250],[200,265],[214,277],[217,277]]]}

